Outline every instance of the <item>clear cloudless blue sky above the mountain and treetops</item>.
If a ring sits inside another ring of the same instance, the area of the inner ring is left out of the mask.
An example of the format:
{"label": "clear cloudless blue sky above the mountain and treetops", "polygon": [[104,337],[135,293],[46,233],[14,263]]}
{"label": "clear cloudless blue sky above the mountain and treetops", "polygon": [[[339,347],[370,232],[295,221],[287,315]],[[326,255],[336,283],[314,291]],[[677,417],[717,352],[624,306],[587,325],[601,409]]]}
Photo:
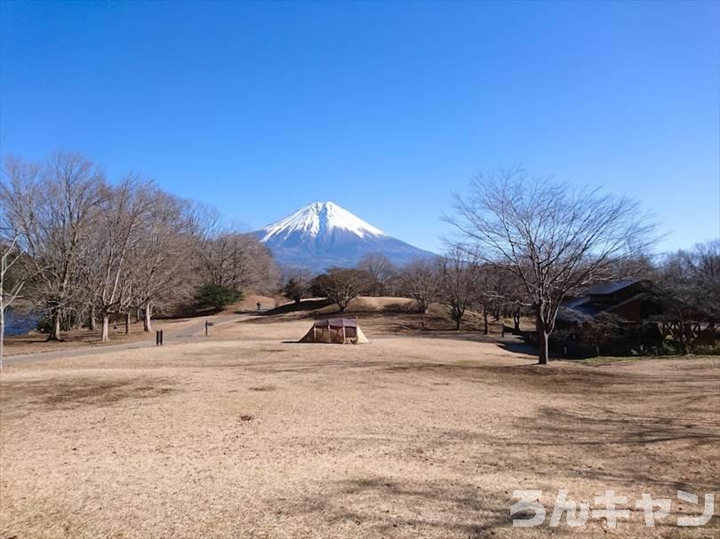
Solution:
{"label": "clear cloudless blue sky above the mountain and treetops", "polygon": [[479,170],[720,235],[720,4],[3,2],[2,154],[82,152],[249,228],[332,200],[426,249]]}

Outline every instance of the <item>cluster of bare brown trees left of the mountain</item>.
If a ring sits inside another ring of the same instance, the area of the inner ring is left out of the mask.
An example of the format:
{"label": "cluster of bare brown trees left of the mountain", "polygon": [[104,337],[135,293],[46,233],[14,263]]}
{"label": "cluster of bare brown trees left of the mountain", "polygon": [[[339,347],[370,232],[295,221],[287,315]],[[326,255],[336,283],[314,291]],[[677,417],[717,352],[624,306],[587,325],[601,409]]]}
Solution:
{"label": "cluster of bare brown trees left of the mountain", "polygon": [[[109,182],[82,155],[44,163],[8,158],[0,185],[0,244],[14,260],[24,301],[50,322],[49,338],[111,318],[196,297],[206,283],[272,289],[272,257],[250,234],[221,225],[202,205],[159,189],[139,174]],[[14,285],[17,286],[17,285]]]}

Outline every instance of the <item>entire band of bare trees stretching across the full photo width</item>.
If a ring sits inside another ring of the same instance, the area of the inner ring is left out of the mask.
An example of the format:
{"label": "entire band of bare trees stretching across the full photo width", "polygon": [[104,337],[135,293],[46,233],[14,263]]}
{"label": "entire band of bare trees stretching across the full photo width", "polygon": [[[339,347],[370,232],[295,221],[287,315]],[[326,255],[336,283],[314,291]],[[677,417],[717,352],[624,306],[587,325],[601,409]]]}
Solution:
{"label": "entire band of bare trees stretching across the full photo width", "polygon": [[[300,301],[326,297],[344,311],[358,295],[411,297],[420,313],[444,305],[456,329],[466,313],[532,316],[540,362],[564,301],[602,281],[652,283],[663,343],[692,352],[720,321],[720,241],[652,256],[652,218],[627,197],[602,194],[516,168],[474,178],[447,217],[456,234],[444,256],[394,266],[381,253],[355,268],[314,275],[278,268],[254,234],[224,226],[217,211],[132,173],[108,180],[97,163],[58,153],[9,157],[0,185],[0,313],[21,296],[43,315],[50,339],[131,313],[220,309],[244,291]],[[20,295],[21,287],[21,295]],[[612,338],[623,321],[588,319],[581,330]],[[0,338],[0,346],[2,338]],[[0,350],[1,353],[1,350]]]}

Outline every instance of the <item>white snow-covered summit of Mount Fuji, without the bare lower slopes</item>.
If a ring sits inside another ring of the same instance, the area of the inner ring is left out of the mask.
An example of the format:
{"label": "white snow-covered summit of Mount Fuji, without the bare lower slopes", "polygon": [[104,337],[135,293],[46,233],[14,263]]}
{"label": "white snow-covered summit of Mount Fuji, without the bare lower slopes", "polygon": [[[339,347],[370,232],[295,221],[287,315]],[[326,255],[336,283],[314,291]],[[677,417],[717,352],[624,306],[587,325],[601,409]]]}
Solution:
{"label": "white snow-covered summit of Mount Fuji, without the bare lower slopes", "polygon": [[296,233],[306,238],[316,238],[320,234],[332,234],[336,229],[356,234],[360,238],[387,235],[334,202],[312,202],[292,215],[264,226],[260,232],[264,234],[262,242],[268,242]]}

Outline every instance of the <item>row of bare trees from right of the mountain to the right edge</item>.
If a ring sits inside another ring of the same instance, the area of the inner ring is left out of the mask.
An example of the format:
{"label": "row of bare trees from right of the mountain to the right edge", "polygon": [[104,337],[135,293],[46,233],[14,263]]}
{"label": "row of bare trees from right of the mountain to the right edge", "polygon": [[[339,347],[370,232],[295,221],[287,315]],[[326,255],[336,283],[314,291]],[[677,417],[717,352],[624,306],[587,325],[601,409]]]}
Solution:
{"label": "row of bare trees from right of the mountain to the right edge", "polygon": [[540,363],[564,300],[601,281],[635,277],[655,283],[668,330],[684,352],[702,321],[720,319],[720,241],[680,251],[652,264],[659,239],[652,217],[627,197],[601,194],[524,170],[497,170],[456,197],[447,220],[457,234],[448,252],[398,269],[381,255],[355,269],[332,268],[312,280],[293,273],[284,292],[330,298],[344,310],[359,294],[412,297],[422,313],[446,305],[460,329],[468,310],[511,314],[516,328],[532,313]]}

